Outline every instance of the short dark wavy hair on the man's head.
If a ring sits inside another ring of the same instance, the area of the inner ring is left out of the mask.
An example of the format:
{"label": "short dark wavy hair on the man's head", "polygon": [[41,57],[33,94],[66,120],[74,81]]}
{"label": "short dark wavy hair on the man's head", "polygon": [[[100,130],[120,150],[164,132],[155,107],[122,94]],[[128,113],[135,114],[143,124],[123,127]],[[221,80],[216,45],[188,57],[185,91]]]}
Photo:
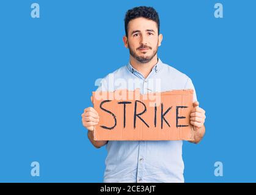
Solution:
{"label": "short dark wavy hair on the man's head", "polygon": [[145,7],[145,6],[140,6],[140,7],[134,7],[131,10],[128,10],[126,12],[125,15],[125,34],[126,37],[128,37],[128,23],[132,20],[132,19],[136,19],[136,18],[147,18],[147,19],[151,19],[153,21],[156,22],[157,26],[158,26],[158,34],[159,34],[159,30],[160,30],[160,20],[159,20],[159,16],[158,13],[156,12],[155,9],[153,9],[153,7]]}

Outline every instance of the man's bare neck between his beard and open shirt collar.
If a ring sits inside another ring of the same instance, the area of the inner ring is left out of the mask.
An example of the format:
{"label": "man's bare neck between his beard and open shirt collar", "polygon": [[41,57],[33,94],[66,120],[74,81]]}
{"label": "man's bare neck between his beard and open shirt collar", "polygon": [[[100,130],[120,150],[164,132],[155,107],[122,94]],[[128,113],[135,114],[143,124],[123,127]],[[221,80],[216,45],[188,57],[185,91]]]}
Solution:
{"label": "man's bare neck between his beard and open shirt collar", "polygon": [[158,57],[156,54],[153,57],[153,59],[150,60],[150,62],[141,63],[141,62],[137,61],[136,59],[134,59],[134,57],[132,57],[130,55],[130,63],[134,69],[139,71],[144,76],[144,78],[147,78],[148,74],[150,74],[150,72],[152,71],[152,68],[156,65],[156,63],[158,63]]}

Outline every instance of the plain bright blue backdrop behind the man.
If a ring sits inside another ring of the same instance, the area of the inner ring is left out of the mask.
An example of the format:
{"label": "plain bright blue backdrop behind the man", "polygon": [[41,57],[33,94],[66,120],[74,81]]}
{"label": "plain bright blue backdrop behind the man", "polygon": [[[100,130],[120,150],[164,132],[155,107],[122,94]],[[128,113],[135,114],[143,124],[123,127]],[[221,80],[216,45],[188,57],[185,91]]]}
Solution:
{"label": "plain bright blue backdrop behind the man", "polygon": [[[214,18],[216,2],[224,18]],[[1,1],[0,182],[103,181],[106,148],[90,144],[81,113],[95,80],[128,62],[123,18],[137,5],[158,11],[158,56],[191,77],[206,110],[205,138],[183,145],[185,182],[256,182],[252,0]]]}

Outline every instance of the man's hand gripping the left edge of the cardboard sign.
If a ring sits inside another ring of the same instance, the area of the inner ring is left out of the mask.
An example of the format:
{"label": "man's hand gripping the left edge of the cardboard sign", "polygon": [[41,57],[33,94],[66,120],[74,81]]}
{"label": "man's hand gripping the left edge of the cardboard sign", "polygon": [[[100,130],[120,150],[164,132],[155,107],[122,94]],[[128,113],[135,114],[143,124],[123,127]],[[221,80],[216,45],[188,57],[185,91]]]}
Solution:
{"label": "man's hand gripping the left edge of the cardboard sign", "polygon": [[97,126],[98,122],[100,121],[100,116],[93,107],[85,108],[84,113],[82,113],[81,116],[82,125],[90,131],[93,131],[94,127]]}

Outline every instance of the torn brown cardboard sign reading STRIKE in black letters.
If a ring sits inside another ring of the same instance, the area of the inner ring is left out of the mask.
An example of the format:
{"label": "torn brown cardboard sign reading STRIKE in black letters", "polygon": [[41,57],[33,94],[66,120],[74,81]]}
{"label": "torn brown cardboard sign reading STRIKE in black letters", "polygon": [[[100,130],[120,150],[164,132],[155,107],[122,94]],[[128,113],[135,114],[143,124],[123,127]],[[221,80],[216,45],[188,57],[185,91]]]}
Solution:
{"label": "torn brown cardboard sign reading STRIKE in black letters", "polygon": [[193,90],[93,91],[93,107],[100,115],[94,140],[193,140],[193,94]]}

